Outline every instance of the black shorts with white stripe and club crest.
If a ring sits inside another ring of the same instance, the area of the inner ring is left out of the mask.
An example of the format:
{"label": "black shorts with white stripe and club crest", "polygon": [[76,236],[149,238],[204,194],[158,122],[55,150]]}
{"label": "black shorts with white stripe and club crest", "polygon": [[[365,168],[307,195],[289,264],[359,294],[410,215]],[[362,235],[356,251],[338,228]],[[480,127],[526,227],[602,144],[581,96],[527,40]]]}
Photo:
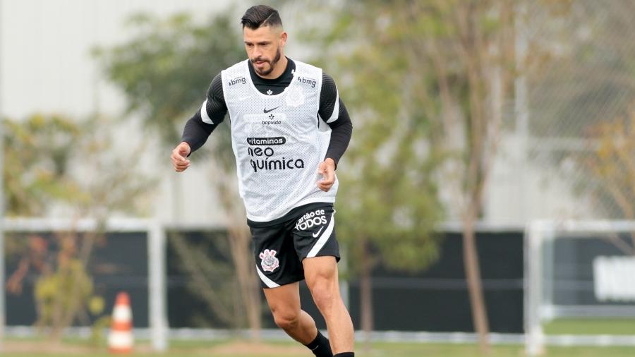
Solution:
{"label": "black shorts with white stripe and club crest", "polygon": [[272,222],[248,221],[263,288],[303,280],[304,258],[330,255],[339,261],[334,214],[331,203],[320,202],[296,207]]}

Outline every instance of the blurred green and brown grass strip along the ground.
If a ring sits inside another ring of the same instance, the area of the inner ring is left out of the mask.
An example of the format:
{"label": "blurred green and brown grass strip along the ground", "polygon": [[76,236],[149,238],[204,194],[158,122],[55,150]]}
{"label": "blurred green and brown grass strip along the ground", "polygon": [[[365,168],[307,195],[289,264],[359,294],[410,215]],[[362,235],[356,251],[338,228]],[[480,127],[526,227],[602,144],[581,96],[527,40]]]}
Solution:
{"label": "blurred green and brown grass strip along the ground", "polygon": [[[617,334],[635,335],[634,319],[555,320],[544,326],[546,334]],[[61,344],[52,344],[44,339],[8,339],[0,350],[2,357],[106,357],[105,341],[95,346],[85,339],[68,339]],[[308,349],[292,341],[252,343],[228,339],[199,341],[170,341],[167,353],[152,353],[147,341],[137,341],[131,356],[164,357],[291,357],[313,356]],[[626,357],[635,356],[633,347],[548,347],[548,357]],[[480,356],[474,344],[417,344],[417,343],[373,343],[370,350],[356,346],[356,356],[367,357],[472,357]],[[524,346],[492,346],[490,357],[525,356]]]}

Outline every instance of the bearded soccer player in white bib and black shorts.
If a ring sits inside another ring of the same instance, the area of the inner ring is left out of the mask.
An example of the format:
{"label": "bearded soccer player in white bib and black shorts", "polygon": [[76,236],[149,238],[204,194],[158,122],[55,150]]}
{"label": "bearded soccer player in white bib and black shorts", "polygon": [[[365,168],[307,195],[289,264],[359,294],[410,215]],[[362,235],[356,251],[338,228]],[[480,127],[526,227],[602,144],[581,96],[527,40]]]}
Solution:
{"label": "bearded soccer player in white bib and black shorts", "polygon": [[[276,325],[315,356],[354,356],[353,324],[339,294],[333,209],[335,169],[351,139],[351,119],[329,75],[284,55],[287,33],[278,11],[253,6],[241,23],[248,59],[214,77],[172,164],[186,170],[187,157],[229,113],[255,268]],[[301,310],[302,279],[330,341]]]}

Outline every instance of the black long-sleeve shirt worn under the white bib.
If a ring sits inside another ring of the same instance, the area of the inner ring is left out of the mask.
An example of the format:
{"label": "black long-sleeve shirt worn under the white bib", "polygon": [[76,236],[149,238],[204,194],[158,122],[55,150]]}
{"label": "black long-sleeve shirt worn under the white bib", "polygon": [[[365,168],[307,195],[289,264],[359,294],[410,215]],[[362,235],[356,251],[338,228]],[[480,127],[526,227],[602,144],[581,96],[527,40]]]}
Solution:
{"label": "black long-sleeve shirt worn under the white bib", "polygon": [[[284,89],[291,84],[291,80],[294,78],[294,71],[296,64],[291,59],[288,59],[286,69],[282,75],[275,79],[262,78],[255,73],[253,66],[249,62],[249,73],[251,80],[255,87],[267,95],[277,95],[284,91]],[[325,158],[331,158],[335,162],[336,166],[344,155],[346,147],[349,146],[351,141],[351,135],[353,133],[353,124],[349,117],[348,111],[344,106],[344,102],[339,98],[335,81],[331,76],[326,73],[322,73],[322,89],[320,90],[320,108],[317,114],[324,121],[332,118],[334,109],[338,107],[338,113],[335,118],[331,120],[327,125],[331,128],[331,140],[327,149]],[[202,121],[200,110],[188,120],[185,128],[183,128],[183,135],[181,141],[184,141],[190,145],[191,151],[194,152],[200,148],[207,138],[210,136],[214,128],[221,123],[227,114],[227,106],[223,95],[223,83],[220,73],[214,77],[210,88],[207,90],[207,101],[205,102],[205,111],[207,116],[212,120],[212,123],[205,123]]]}

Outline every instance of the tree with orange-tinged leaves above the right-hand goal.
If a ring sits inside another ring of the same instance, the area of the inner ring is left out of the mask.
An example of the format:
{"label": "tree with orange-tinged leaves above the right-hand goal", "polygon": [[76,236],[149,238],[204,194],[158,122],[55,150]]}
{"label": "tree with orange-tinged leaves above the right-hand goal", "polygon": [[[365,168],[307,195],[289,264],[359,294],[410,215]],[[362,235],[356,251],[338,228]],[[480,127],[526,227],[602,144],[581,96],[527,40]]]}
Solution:
{"label": "tree with orange-tinged leaves above the right-hand goal", "polygon": [[622,41],[625,33],[635,31],[625,15],[632,11],[632,1],[572,2],[567,18],[540,28],[543,43],[559,49],[552,55],[555,60],[528,75],[529,131],[539,149],[533,155],[550,165],[551,172],[562,173],[581,198],[577,207],[593,217],[633,218],[631,149],[624,140],[632,137],[635,44]]}

